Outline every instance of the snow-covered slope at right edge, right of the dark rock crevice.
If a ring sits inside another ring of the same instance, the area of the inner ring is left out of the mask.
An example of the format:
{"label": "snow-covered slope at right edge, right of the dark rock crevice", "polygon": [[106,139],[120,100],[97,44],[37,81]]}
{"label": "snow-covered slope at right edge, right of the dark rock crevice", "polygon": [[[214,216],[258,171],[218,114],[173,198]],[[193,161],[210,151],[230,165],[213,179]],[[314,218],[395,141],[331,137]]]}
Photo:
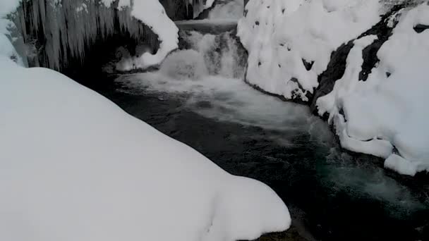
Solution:
{"label": "snow-covered slope at right edge, right of the dark rock crevice", "polygon": [[330,113],[343,147],[381,156],[387,168],[406,175],[429,171],[429,30],[418,33],[417,25],[429,25],[427,4],[401,12],[365,82],[358,78],[362,50],[374,37],[356,40],[343,78],[317,101],[320,115]]}

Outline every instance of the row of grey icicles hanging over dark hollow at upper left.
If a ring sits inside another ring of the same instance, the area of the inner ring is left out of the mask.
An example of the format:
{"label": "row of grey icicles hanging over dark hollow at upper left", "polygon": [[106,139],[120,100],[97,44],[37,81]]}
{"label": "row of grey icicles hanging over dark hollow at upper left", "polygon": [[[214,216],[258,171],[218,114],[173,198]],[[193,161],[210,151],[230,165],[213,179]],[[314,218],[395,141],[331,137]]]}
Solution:
{"label": "row of grey icicles hanging over dark hollow at upper left", "polygon": [[131,18],[129,6],[115,9],[118,0],[111,5],[99,0],[23,0],[15,22],[25,42],[37,39],[42,44],[44,66],[57,70],[67,66],[70,58],[83,62],[85,49],[114,35],[115,20],[120,31],[136,41],[143,38],[152,46],[158,44],[147,27]]}

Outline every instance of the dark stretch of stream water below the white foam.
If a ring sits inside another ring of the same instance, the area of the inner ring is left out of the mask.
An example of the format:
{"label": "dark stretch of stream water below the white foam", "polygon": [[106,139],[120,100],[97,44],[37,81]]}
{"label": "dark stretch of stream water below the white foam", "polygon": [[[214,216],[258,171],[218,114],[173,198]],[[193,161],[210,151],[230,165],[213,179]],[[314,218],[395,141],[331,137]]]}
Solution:
{"label": "dark stretch of stream water below the white foam", "polygon": [[[270,185],[291,209],[300,236],[291,240],[429,240],[428,177],[400,176],[379,159],[342,151],[317,118],[297,116],[283,130],[222,121],[201,114],[213,108],[208,100],[190,105],[189,94],[136,89],[112,78],[92,88],[229,173]],[[279,237],[273,240],[286,235]]]}

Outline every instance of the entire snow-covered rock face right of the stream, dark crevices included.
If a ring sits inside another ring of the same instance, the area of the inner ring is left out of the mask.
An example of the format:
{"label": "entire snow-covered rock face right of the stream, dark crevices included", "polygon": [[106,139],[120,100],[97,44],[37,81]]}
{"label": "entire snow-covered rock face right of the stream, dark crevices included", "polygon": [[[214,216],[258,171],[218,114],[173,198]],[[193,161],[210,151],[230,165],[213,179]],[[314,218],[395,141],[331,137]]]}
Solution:
{"label": "entire snow-covered rock face right of the stream, dark crevices included", "polygon": [[428,8],[428,1],[250,1],[238,25],[249,51],[246,80],[308,101],[342,147],[380,156],[402,174],[428,171],[429,114],[421,106]]}

